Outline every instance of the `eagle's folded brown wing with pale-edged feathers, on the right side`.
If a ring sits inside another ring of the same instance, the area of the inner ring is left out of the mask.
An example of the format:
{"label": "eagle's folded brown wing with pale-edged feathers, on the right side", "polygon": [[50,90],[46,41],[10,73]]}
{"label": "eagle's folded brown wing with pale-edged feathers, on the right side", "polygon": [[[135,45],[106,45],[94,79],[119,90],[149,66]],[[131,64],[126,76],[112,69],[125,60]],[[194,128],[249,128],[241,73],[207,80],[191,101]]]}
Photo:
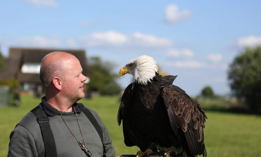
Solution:
{"label": "eagle's folded brown wing with pale-edged feathers, on the right side", "polygon": [[173,131],[177,135],[178,128],[181,128],[191,153],[194,156],[200,154],[204,156],[203,129],[207,116],[202,107],[196,100],[190,98],[184,90],[175,85],[164,87],[162,97]]}

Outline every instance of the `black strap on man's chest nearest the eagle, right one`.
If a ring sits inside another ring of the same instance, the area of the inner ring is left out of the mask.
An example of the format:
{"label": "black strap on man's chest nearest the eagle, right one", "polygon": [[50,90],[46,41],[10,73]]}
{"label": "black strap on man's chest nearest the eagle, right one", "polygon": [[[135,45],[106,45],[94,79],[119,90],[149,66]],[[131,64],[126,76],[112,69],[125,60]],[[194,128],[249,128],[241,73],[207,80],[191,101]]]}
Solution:
{"label": "black strap on man's chest nearest the eagle, right one", "polygon": [[101,130],[101,126],[99,125],[99,123],[97,122],[97,120],[95,119],[95,117],[93,116],[93,114],[91,113],[91,111],[89,111],[87,108],[84,107],[83,104],[78,103],[79,108],[82,110],[82,112],[87,116],[87,118],[91,121],[92,125],[95,127],[96,131],[98,132],[100,138],[101,138],[101,142],[103,145],[103,157],[106,157],[106,150],[103,144],[103,133]]}

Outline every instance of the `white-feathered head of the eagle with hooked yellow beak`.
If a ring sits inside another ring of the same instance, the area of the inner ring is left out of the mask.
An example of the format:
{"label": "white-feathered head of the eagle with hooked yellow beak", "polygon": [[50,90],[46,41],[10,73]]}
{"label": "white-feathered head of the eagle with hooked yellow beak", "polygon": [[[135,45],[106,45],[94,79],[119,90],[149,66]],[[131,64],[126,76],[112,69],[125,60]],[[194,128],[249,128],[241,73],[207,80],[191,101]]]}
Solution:
{"label": "white-feathered head of the eagle with hooked yellow beak", "polygon": [[151,82],[156,73],[158,73],[157,62],[152,57],[142,55],[129,61],[120,70],[120,76],[131,74],[134,77],[134,82],[147,85]]}

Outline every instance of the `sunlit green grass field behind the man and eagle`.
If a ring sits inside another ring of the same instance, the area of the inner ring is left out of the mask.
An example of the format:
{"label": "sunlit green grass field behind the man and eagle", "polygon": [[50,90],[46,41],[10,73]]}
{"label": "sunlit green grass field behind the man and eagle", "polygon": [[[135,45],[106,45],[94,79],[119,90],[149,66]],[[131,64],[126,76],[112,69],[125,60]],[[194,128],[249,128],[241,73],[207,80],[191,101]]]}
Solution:
{"label": "sunlit green grass field behind the man and eagle", "polygon": [[[32,96],[22,96],[20,107],[0,108],[0,157],[7,156],[9,135],[16,123],[40,101]],[[101,116],[113,139],[117,155],[136,154],[138,147],[125,146],[122,126],[117,124],[119,101],[116,96],[82,99],[79,102]],[[202,106],[208,108],[204,131],[208,157],[261,157],[260,116],[211,111],[205,102],[202,102]]]}

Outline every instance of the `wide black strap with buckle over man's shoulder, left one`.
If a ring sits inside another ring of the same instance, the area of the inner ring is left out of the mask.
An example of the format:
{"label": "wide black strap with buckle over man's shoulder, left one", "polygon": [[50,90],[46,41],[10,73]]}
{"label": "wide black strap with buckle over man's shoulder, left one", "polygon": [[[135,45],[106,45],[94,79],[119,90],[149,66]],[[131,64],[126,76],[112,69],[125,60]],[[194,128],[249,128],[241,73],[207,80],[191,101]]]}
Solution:
{"label": "wide black strap with buckle over man's shoulder, left one", "polygon": [[32,109],[31,112],[35,115],[35,117],[37,118],[37,122],[40,125],[46,156],[57,157],[55,140],[49,124],[49,118],[46,117],[44,111],[40,108],[40,106],[36,106],[34,109]]}

